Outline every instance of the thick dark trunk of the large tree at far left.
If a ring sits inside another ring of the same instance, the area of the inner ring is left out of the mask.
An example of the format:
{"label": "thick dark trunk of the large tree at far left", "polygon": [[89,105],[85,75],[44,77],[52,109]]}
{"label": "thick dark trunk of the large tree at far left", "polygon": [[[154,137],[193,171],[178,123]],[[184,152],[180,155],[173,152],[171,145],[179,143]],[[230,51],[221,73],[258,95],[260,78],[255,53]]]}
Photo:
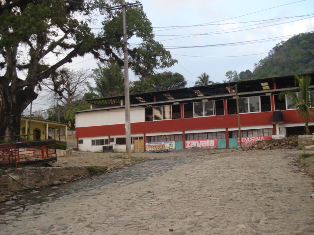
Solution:
{"label": "thick dark trunk of the large tree at far left", "polygon": [[22,112],[31,101],[36,99],[37,94],[31,87],[17,92],[0,87],[0,93],[0,140],[4,142],[20,141]]}

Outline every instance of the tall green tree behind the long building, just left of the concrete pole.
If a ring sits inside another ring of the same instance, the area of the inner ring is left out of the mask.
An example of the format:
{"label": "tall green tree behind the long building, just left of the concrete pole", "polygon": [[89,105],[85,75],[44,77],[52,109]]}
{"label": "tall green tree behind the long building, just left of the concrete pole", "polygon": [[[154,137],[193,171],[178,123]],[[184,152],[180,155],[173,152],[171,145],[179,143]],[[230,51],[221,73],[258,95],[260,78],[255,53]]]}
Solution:
{"label": "tall green tree behind the long building, just left of the concrete pole", "polygon": [[96,87],[91,91],[99,97],[110,97],[124,94],[124,73],[122,67],[116,62],[106,62],[98,64],[98,68],[93,70]]}

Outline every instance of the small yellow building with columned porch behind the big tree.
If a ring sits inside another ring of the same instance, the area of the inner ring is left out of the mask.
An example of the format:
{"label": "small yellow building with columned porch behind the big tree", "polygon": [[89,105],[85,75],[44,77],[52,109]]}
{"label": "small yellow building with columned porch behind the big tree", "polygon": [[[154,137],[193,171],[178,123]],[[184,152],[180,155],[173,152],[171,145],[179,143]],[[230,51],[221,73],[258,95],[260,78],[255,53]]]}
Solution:
{"label": "small yellow building with columned porch behind the big tree", "polygon": [[26,135],[27,133],[30,133],[32,136],[29,137],[29,140],[48,140],[49,128],[54,129],[54,139],[56,140],[57,129],[64,128],[65,141],[67,141],[67,127],[68,124],[56,121],[47,121],[34,118],[21,118],[21,135]]}

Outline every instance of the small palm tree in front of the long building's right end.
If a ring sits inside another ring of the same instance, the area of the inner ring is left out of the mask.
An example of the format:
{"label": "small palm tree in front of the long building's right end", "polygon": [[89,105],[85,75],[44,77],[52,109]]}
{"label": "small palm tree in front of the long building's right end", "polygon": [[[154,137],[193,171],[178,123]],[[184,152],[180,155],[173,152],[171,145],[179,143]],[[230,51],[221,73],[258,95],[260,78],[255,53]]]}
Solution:
{"label": "small palm tree in front of the long building's right end", "polygon": [[281,94],[279,98],[283,99],[286,95],[289,96],[297,110],[297,115],[305,121],[305,135],[309,135],[309,119],[313,116],[312,104],[314,103],[313,94],[309,88],[312,78],[310,75],[301,77],[294,75],[294,79],[299,85],[298,91],[287,91]]}

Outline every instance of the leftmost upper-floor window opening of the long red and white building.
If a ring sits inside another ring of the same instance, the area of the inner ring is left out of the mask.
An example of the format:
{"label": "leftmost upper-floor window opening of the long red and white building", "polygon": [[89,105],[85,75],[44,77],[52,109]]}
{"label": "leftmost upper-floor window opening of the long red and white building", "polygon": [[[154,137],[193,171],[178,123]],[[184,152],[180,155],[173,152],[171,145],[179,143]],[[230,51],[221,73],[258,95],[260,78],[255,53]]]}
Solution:
{"label": "leftmost upper-floor window opening of the long red and white building", "polygon": [[164,105],[145,108],[145,121],[180,119],[181,105]]}

